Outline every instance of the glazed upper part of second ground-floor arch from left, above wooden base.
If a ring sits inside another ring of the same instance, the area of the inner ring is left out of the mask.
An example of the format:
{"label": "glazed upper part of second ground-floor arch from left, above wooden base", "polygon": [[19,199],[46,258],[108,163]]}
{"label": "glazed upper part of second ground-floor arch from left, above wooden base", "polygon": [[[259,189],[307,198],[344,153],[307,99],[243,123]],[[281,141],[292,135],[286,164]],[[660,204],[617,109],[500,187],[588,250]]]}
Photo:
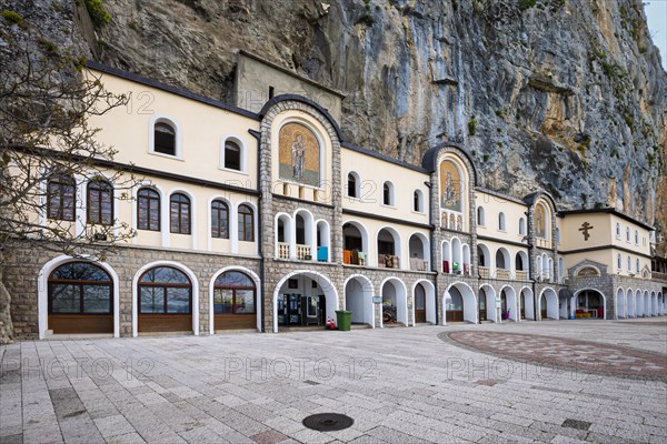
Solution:
{"label": "glazed upper part of second ground-floor arch from left, above wooden base", "polygon": [[180,270],[157,266],[139,279],[139,313],[190,314],[192,283]]}

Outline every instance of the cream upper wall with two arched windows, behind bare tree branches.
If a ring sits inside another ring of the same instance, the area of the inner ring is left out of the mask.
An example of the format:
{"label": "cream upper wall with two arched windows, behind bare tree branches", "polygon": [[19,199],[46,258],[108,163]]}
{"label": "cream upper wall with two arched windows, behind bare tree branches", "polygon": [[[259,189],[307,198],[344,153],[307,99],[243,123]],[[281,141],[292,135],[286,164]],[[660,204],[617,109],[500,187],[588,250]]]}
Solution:
{"label": "cream upper wall with two arched windows, behind bare tree branches", "polygon": [[[108,91],[130,97],[128,105],[90,118],[91,127],[102,129],[98,141],[118,150],[115,161],[257,189],[257,139],[248,130],[259,130],[258,121],[157,88],[93,73],[101,75]],[[168,119],[177,127],[179,157],[151,153],[152,125],[159,119]],[[243,171],[221,168],[221,148],[227,138],[243,147]]]}

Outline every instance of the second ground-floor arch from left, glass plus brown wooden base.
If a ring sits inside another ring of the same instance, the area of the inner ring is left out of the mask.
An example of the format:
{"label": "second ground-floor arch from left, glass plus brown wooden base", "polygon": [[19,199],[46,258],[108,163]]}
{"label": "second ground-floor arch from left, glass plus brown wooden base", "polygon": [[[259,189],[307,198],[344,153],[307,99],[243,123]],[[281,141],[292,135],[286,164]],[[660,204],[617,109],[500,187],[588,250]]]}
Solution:
{"label": "second ground-floor arch from left, glass plus brown wooden base", "polygon": [[192,282],[173,266],[155,266],[138,281],[138,331],[192,331]]}

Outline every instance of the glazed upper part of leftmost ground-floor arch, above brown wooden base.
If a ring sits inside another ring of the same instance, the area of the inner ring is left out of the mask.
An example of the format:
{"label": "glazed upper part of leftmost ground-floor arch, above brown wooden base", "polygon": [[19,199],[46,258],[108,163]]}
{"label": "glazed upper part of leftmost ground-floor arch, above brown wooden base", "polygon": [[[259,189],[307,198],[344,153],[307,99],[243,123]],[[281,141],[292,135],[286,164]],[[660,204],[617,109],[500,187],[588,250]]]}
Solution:
{"label": "glazed upper part of leftmost ground-floor arch, above brown wooden base", "polygon": [[49,276],[49,314],[111,314],[112,302],[111,276],[100,266],[69,262]]}

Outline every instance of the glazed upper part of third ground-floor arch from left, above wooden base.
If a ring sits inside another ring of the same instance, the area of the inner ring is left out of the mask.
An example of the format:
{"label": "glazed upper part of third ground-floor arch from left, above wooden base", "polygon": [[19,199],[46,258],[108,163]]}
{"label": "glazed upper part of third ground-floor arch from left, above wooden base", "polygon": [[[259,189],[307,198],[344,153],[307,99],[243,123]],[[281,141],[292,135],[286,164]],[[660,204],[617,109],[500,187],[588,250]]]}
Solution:
{"label": "glazed upper part of third ground-floor arch from left, above wooden base", "polygon": [[213,283],[213,313],[255,314],[255,282],[245,273],[228,271]]}

